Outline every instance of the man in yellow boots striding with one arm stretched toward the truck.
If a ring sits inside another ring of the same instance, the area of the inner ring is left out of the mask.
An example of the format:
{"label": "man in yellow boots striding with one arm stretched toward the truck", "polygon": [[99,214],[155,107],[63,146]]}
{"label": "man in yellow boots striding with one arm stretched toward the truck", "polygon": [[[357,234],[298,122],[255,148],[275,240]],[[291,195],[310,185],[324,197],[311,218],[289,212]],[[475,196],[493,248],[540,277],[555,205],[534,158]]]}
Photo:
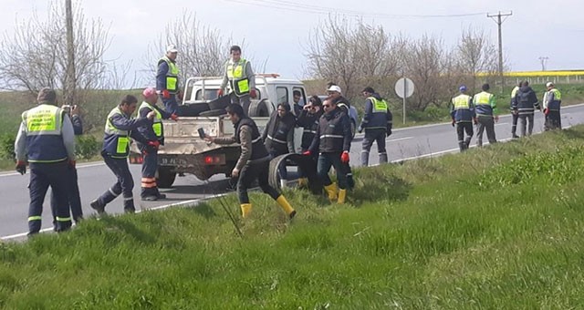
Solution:
{"label": "man in yellow boots striding with one arm stretched toward the truck", "polygon": [[205,134],[204,140],[216,144],[238,143],[241,147],[239,159],[235,163],[234,170],[231,171],[231,176],[239,177],[237,180],[237,195],[242,217],[248,217],[252,211],[252,204],[249,202],[247,190],[253,186],[254,181],[257,181],[262,191],[270,195],[278,203],[282,210],[286,212],[288,218],[294,218],[296,211],[287,202],[286,197],[268,183],[270,155],[264,146],[254,120],[246,117],[244,109],[238,104],[231,104],[225,110],[234,124],[234,136],[214,138]]}

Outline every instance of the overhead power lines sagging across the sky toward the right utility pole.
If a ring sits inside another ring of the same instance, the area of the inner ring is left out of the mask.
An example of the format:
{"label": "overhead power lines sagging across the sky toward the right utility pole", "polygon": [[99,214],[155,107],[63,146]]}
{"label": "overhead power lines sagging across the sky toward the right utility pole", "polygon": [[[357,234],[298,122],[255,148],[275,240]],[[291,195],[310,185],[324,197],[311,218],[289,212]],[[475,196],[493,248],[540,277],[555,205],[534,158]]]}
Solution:
{"label": "overhead power lines sagging across the sky toward the right utility pole", "polygon": [[280,10],[296,11],[302,13],[312,13],[320,15],[330,15],[330,14],[341,14],[341,15],[354,15],[354,16],[368,16],[368,17],[378,17],[378,18],[454,18],[454,17],[466,17],[474,15],[484,15],[485,12],[480,13],[465,13],[465,14],[448,14],[448,15],[394,15],[394,14],[382,14],[382,13],[371,13],[364,11],[348,10],[336,7],[320,6],[320,5],[306,5],[299,4],[292,1],[276,1],[276,0],[225,0],[227,2],[238,3],[242,5],[253,5],[260,7],[276,8]]}

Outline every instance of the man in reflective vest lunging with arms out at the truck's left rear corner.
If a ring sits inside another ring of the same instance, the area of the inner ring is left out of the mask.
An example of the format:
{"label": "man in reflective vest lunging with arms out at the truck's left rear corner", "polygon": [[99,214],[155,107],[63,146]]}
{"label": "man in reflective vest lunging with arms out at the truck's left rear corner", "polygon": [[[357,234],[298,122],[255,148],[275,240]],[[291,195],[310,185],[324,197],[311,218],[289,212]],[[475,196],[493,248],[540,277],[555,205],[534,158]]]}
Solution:
{"label": "man in reflective vest lunging with arms out at the truck's left rear corner", "polygon": [[148,112],[145,118],[132,119],[130,115],[136,110],[138,99],[127,95],[122,98],[118,107],[112,109],[106,120],[105,133],[103,138],[103,149],[101,157],[105,161],[110,171],[118,179],[108,191],[105,191],[98,199],[90,202],[91,208],[99,214],[105,212],[108,203],[123,195],[124,212],[133,213],[134,198],[132,190],[134,181],[128,167],[128,155],[130,154],[130,137],[142,144],[158,149],[158,140],[147,140],[137,130],[141,126],[152,126],[152,120],[156,117],[154,111]]}

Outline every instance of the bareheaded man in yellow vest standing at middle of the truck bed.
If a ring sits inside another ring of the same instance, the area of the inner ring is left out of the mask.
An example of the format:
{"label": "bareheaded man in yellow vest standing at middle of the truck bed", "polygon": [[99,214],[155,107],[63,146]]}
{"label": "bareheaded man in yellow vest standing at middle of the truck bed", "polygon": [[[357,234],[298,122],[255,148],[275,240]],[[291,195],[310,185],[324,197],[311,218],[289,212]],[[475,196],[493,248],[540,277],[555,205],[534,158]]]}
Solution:
{"label": "bareheaded man in yellow vest standing at middle of the truck bed", "polygon": [[217,90],[217,97],[224,94],[224,88],[229,83],[231,103],[244,108],[247,115],[251,98],[255,98],[255,74],[249,61],[241,57],[241,47],[233,46],[229,49],[231,58],[225,63],[225,71],[221,87]]}

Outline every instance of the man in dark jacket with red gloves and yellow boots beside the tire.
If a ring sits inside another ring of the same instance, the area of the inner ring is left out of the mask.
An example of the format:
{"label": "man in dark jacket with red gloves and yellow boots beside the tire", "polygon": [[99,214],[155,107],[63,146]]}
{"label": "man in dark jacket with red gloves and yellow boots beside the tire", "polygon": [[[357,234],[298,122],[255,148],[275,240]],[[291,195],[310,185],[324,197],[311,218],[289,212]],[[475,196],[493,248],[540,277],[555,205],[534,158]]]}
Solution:
{"label": "man in dark jacket with red gloves and yellow boots beside the tire", "polygon": [[[317,132],[310,147],[303,154],[311,156],[318,152],[317,173],[322,180],[328,200],[345,203],[347,196],[347,174],[345,166],[349,164],[349,150],[351,132],[349,116],[337,106],[335,100],[326,99],[322,103],[324,114],[318,119]],[[337,184],[330,181],[328,171],[330,167],[337,171]]]}

